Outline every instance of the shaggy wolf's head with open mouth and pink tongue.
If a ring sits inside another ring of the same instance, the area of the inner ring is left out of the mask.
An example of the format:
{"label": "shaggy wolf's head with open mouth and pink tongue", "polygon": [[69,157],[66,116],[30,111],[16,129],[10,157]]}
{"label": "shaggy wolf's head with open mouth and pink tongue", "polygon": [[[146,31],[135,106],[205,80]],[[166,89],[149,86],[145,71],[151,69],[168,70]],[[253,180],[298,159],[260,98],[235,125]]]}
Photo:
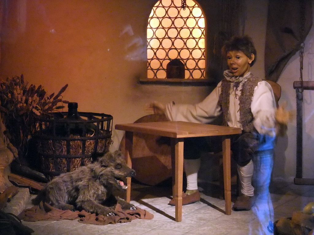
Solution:
{"label": "shaggy wolf's head with open mouth and pink tongue", "polygon": [[135,175],[135,170],[127,166],[121,151],[107,153],[88,167],[101,184],[112,185],[119,190],[126,190],[126,181],[123,180]]}

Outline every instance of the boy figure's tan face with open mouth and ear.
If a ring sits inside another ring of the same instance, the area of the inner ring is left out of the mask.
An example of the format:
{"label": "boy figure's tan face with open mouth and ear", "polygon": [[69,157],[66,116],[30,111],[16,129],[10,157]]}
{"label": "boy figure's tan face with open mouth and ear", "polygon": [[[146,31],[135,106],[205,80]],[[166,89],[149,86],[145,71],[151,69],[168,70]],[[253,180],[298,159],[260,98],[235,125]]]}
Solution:
{"label": "boy figure's tan face with open mouth and ear", "polygon": [[243,77],[250,71],[250,64],[254,60],[254,55],[251,54],[251,59],[248,58],[242,51],[228,51],[227,63],[233,75]]}

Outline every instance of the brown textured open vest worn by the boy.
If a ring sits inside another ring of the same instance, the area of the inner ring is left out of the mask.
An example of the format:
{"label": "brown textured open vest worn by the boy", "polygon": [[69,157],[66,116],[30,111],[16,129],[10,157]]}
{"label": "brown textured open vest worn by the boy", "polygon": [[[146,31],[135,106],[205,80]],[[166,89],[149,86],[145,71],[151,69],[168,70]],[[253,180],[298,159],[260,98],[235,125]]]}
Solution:
{"label": "brown textured open vest worn by the boy", "polygon": [[[239,97],[240,103],[240,123],[245,132],[252,132],[254,129],[253,126],[253,114],[251,112],[251,103],[253,98],[254,89],[257,86],[257,83],[262,81],[262,79],[253,76],[247,78],[243,82],[241,94]],[[221,81],[221,93],[219,95],[218,105],[222,109],[223,113],[223,123],[222,125],[227,126],[227,117],[229,112],[229,93],[230,93],[231,82],[227,79]]]}

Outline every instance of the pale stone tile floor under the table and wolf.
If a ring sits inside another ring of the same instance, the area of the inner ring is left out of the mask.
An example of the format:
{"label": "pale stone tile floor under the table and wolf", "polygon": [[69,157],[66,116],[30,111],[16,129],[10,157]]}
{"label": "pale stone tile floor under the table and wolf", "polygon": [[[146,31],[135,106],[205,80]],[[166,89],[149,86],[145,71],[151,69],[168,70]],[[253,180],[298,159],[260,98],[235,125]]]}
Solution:
{"label": "pale stone tile floor under the table and wolf", "polygon": [[[183,206],[182,222],[175,222],[175,207],[167,205],[171,199],[171,187],[144,186],[132,183],[131,202],[154,214],[152,220],[133,220],[128,223],[105,226],[82,224],[78,221],[24,222],[34,235],[261,235],[272,234],[269,226],[282,217],[291,217],[314,201],[313,185],[272,183],[269,196],[258,199],[251,211],[225,215],[225,202],[212,192],[215,185],[202,185],[201,201]],[[204,190],[206,188],[206,190]],[[31,198],[34,195],[31,195]],[[234,201],[234,199],[233,199]],[[30,203],[26,207],[31,207]],[[269,231],[268,231],[269,230]]]}

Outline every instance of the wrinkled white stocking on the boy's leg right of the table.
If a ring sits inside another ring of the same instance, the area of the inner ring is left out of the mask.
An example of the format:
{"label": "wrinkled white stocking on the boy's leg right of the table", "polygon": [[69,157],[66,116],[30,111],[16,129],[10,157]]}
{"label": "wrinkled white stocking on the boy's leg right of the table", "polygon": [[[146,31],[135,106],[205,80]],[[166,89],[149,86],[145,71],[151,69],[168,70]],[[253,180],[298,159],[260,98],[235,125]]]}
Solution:
{"label": "wrinkled white stocking on the boy's leg right of the table", "polygon": [[254,188],[252,186],[254,165],[252,160],[245,166],[237,165],[237,169],[241,182],[241,193],[246,196],[254,196]]}

